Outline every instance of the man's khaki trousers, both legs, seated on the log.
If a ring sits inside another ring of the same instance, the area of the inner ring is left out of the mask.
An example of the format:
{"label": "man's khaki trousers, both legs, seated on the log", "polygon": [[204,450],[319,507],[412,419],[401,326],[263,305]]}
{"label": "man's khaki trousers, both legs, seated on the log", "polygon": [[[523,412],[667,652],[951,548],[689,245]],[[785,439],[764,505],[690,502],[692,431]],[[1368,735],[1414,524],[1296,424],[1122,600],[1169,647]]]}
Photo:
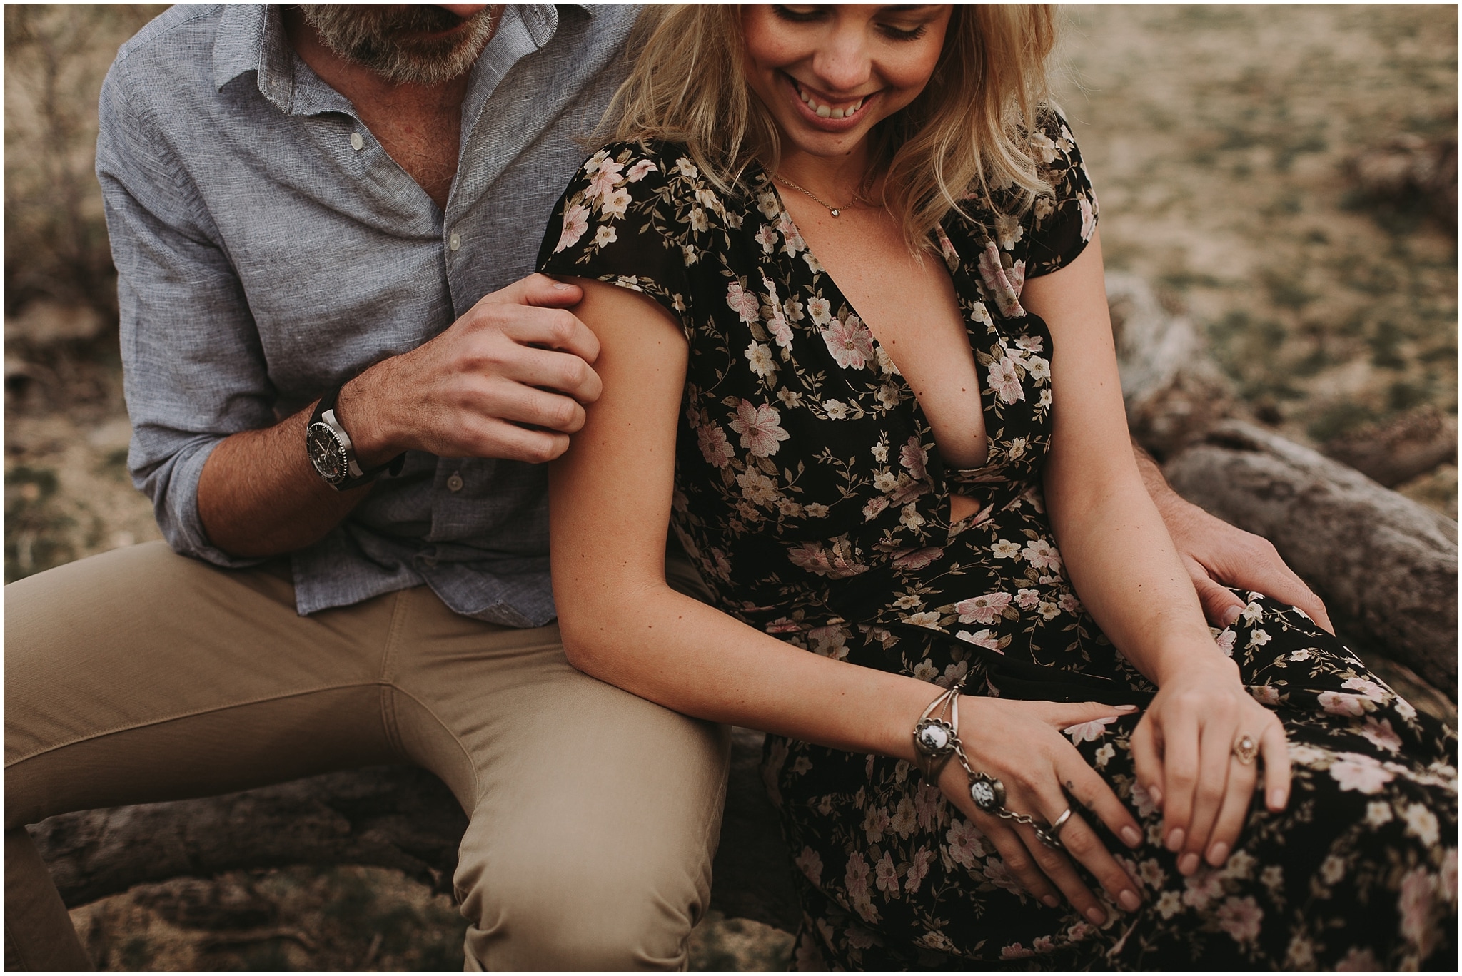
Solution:
{"label": "man's khaki trousers, both legs, seated on the log", "polygon": [[468,969],[684,967],[727,731],[575,671],[556,625],[482,624],[427,587],[304,618],[284,563],[149,544],[4,587],[4,638],[9,969],[89,967],[25,824],[382,763],[431,770],[471,817]]}

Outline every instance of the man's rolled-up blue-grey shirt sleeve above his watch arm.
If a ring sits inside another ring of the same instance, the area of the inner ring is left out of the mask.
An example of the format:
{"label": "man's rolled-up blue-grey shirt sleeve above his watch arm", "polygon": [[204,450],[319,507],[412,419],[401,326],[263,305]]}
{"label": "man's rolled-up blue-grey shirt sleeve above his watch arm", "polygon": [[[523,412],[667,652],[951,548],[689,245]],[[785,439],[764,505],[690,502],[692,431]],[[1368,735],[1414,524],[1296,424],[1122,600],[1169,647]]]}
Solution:
{"label": "man's rolled-up blue-grey shirt sleeve above his watch arm", "polygon": [[120,66],[102,85],[96,178],[117,266],[127,466],[177,552],[253,565],[209,544],[197,484],[221,440],[275,422],[275,390],[228,248]]}

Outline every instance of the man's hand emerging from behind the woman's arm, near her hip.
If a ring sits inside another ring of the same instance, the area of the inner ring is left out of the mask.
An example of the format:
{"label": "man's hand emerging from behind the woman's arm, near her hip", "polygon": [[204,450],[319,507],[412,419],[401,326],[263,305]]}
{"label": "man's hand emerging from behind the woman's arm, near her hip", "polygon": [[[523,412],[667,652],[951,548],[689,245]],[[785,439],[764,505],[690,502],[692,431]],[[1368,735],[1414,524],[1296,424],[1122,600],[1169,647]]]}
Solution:
{"label": "man's hand emerging from behind the woman's arm, near her hip", "polygon": [[1335,633],[1325,603],[1285,565],[1269,539],[1231,526],[1187,501],[1173,491],[1146,451],[1136,449],[1136,453],[1142,481],[1193,579],[1209,622],[1228,627],[1238,619],[1244,603],[1225,589],[1234,586],[1298,606],[1320,627]]}

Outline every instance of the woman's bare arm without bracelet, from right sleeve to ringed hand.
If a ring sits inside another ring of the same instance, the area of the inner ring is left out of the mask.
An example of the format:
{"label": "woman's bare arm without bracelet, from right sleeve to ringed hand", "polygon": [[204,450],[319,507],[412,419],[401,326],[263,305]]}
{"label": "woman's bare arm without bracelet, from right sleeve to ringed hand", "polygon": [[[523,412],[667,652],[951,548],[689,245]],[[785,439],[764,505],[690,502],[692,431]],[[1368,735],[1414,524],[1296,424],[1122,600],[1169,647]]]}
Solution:
{"label": "woman's bare arm without bracelet, from right sleeve to ringed hand", "polygon": [[1253,767],[1234,741],[1262,736],[1270,807],[1288,789],[1284,731],[1215,644],[1197,595],[1143,488],[1127,437],[1102,285],[1101,241],[1025,285],[1026,308],[1051,329],[1054,430],[1047,506],[1072,583],[1121,653],[1159,688],[1133,735],[1139,780],[1164,805],[1164,837],[1222,862],[1243,826]]}

